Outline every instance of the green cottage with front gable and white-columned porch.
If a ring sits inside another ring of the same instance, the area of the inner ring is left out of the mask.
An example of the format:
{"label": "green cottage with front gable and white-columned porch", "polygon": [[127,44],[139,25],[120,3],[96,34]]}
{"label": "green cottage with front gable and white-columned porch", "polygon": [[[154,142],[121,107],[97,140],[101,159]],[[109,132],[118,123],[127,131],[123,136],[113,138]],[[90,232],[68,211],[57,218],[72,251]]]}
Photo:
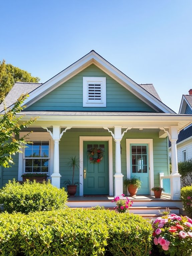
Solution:
{"label": "green cottage with front gable and white-columned porch", "polygon": [[[171,180],[171,198],[179,199],[177,134],[192,117],[166,106],[152,84],[135,83],[92,50],[44,84],[16,83],[6,105],[11,108],[22,92],[29,93],[24,120],[38,119],[20,136],[33,130],[33,145],[14,156],[12,168],[1,167],[1,186],[9,179],[21,180],[24,172],[46,172],[53,185],[62,187],[72,178],[68,158],[76,155],[80,168],[75,181],[81,183],[77,195],[127,194],[123,179],[130,176],[142,181],[138,194],[153,195],[150,188],[160,184],[163,173]],[[100,163],[90,163],[90,148],[102,149]]]}

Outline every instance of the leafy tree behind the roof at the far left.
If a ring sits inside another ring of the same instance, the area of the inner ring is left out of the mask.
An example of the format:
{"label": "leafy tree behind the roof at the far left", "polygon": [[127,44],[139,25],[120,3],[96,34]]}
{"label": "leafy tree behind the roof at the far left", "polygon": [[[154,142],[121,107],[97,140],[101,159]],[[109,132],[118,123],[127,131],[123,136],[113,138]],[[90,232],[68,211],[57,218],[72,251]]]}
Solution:
{"label": "leafy tree behind the roof at the far left", "polygon": [[15,82],[38,83],[40,78],[32,77],[25,70],[6,64],[5,60],[0,61],[0,103],[11,90]]}

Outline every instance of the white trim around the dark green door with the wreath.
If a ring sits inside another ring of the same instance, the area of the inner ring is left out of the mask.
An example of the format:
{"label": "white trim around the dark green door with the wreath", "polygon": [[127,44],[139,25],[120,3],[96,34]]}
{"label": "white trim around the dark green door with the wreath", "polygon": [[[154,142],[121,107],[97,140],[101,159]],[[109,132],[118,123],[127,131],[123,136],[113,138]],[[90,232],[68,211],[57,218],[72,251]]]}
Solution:
{"label": "white trim around the dark green door with the wreath", "polygon": [[113,196],[113,142],[111,136],[79,136],[79,196],[83,196],[83,141],[109,142],[109,195]]}

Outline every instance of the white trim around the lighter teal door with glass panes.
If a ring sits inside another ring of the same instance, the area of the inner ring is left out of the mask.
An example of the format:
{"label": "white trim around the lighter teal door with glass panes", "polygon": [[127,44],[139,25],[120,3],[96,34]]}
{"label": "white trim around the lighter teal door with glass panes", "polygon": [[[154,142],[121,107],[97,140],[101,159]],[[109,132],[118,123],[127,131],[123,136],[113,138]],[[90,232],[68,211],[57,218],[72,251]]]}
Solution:
{"label": "white trim around the lighter teal door with glass panes", "polygon": [[[153,139],[126,139],[126,159],[127,159],[127,177],[131,177],[131,159],[130,144],[148,144],[149,150],[149,190],[154,186],[154,169],[153,169]],[[150,190],[150,195],[153,192]]]}

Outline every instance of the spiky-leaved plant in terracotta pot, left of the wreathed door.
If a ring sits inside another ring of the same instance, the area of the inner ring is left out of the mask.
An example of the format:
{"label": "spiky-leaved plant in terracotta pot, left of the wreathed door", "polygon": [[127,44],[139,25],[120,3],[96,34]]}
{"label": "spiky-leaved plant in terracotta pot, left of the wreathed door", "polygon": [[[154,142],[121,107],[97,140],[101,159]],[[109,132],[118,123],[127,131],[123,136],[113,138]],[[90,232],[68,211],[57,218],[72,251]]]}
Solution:
{"label": "spiky-leaved plant in terracotta pot, left of the wreathed door", "polygon": [[71,156],[68,159],[69,161],[67,162],[67,165],[69,165],[69,167],[73,169],[72,181],[68,179],[65,180],[63,183],[67,184],[67,193],[69,194],[69,197],[74,197],[77,191],[76,184],[81,184],[78,181],[74,182],[75,167],[79,168],[79,158],[76,158],[76,156]]}

